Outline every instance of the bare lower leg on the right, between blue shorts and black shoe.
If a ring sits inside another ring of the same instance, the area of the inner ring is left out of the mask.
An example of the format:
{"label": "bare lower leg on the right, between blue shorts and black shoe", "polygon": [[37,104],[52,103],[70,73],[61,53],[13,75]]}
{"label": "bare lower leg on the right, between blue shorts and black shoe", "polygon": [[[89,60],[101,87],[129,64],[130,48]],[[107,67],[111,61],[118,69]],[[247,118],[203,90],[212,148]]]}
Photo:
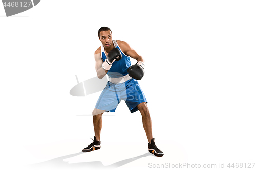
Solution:
{"label": "bare lower leg on the right, between blue shorts and black shoe", "polygon": [[140,103],[137,107],[142,116],[143,128],[146,132],[146,137],[147,137],[148,143],[150,143],[151,139],[153,138],[150,111],[148,110],[146,102]]}

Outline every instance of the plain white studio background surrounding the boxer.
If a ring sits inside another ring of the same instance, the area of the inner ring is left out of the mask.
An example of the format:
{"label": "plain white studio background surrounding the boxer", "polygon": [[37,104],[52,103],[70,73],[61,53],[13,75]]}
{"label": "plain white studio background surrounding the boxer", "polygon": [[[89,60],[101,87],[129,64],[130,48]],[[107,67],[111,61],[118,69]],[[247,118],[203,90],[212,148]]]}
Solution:
{"label": "plain white studio background surrounding the boxer", "polygon": [[[0,6],[1,166],[256,162],[255,6],[42,0],[11,17]],[[75,97],[69,91],[75,75],[80,82],[96,76],[93,54],[102,26],[146,60],[139,83],[162,158],[146,154],[141,115],[130,113],[124,101],[102,117],[101,149],[81,153],[94,136],[91,114],[100,92]]]}

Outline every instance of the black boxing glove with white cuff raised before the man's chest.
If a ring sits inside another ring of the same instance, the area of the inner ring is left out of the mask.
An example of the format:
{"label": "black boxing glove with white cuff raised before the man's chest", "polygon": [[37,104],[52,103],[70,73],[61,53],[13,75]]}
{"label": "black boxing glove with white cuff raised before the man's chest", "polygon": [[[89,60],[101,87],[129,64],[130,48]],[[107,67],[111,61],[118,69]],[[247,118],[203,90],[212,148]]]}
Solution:
{"label": "black boxing glove with white cuff raised before the man's chest", "polygon": [[102,68],[106,71],[110,70],[114,61],[119,61],[122,58],[122,54],[118,48],[113,48],[108,56],[106,56],[106,60],[102,64]]}

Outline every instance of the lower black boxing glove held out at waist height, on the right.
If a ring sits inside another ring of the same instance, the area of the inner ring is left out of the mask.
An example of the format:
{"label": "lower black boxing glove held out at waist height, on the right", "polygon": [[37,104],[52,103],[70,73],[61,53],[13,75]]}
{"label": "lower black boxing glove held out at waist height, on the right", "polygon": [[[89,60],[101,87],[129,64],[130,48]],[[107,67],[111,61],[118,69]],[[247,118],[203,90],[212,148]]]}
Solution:
{"label": "lower black boxing glove held out at waist height, on the right", "polygon": [[144,76],[144,64],[143,62],[139,61],[137,62],[137,64],[129,67],[127,71],[129,76],[131,76],[132,78],[136,80],[141,80]]}

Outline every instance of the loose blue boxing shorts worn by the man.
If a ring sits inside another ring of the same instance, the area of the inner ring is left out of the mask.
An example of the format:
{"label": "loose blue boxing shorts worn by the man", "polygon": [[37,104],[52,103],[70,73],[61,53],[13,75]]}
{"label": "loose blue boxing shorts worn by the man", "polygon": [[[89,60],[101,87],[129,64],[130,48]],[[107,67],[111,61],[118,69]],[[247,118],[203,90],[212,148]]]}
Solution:
{"label": "loose blue boxing shorts worn by the man", "polygon": [[95,108],[115,112],[116,107],[124,100],[131,113],[138,111],[138,104],[146,102],[146,97],[137,80],[130,79],[126,82],[114,84],[108,81],[99,96]]}

